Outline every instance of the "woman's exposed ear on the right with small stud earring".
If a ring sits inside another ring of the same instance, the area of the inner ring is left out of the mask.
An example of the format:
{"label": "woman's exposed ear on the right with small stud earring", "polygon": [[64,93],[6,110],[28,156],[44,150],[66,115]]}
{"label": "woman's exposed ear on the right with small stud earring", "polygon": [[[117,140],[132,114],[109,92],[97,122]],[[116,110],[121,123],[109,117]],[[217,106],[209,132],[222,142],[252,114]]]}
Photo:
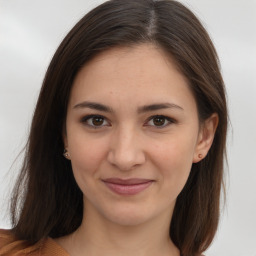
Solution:
{"label": "woman's exposed ear on the right with small stud earring", "polygon": [[218,123],[219,116],[217,113],[214,113],[208,119],[206,119],[203,124],[201,124],[197,145],[194,152],[193,163],[201,161],[208,154]]}

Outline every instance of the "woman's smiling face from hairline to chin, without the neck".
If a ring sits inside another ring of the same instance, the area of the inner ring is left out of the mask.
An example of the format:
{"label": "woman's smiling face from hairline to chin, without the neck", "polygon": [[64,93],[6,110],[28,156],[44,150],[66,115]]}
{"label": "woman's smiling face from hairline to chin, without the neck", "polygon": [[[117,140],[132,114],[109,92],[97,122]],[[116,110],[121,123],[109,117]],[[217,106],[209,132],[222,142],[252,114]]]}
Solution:
{"label": "woman's smiling face from hairline to chin, without the neck", "polygon": [[64,143],[85,214],[121,225],[171,218],[201,138],[186,79],[152,45],[105,51],[74,81]]}

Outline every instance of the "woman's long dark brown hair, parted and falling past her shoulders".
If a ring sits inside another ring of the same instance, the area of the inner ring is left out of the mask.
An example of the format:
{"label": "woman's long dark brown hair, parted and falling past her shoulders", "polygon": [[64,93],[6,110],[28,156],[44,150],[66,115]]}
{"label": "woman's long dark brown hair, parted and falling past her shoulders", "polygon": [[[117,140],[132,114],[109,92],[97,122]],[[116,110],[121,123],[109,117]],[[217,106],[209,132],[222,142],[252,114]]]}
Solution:
{"label": "woman's long dark brown hair, parted and falling past her shoulders", "polygon": [[86,14],[57,49],[35,108],[21,172],[13,191],[13,232],[35,243],[61,237],[82,221],[82,192],[63,157],[62,131],[78,71],[98,53],[117,46],[152,43],[177,63],[188,79],[200,121],[219,116],[213,145],[193,164],[177,198],[170,237],[183,256],[200,255],[219,220],[227,132],[225,88],[209,35],[181,3],[172,0],[112,0]]}

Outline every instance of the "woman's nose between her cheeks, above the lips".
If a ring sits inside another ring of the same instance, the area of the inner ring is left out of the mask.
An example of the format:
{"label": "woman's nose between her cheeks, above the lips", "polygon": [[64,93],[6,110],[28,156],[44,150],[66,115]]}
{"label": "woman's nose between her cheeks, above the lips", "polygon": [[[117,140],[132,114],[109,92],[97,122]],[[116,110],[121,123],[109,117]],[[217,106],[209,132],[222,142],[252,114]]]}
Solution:
{"label": "woman's nose between her cheeks, above the lips", "polygon": [[139,134],[131,129],[120,129],[115,132],[107,158],[111,165],[121,171],[129,171],[142,165],[146,157]]}

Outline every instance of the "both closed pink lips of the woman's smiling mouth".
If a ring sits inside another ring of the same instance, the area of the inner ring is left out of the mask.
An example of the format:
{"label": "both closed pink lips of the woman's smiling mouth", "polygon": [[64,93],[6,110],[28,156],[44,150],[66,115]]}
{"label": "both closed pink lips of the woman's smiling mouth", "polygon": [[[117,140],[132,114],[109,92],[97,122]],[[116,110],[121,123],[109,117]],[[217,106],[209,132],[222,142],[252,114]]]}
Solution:
{"label": "both closed pink lips of the woman's smiling mouth", "polygon": [[153,180],[149,179],[104,179],[105,185],[113,192],[120,195],[135,195],[149,187]]}

